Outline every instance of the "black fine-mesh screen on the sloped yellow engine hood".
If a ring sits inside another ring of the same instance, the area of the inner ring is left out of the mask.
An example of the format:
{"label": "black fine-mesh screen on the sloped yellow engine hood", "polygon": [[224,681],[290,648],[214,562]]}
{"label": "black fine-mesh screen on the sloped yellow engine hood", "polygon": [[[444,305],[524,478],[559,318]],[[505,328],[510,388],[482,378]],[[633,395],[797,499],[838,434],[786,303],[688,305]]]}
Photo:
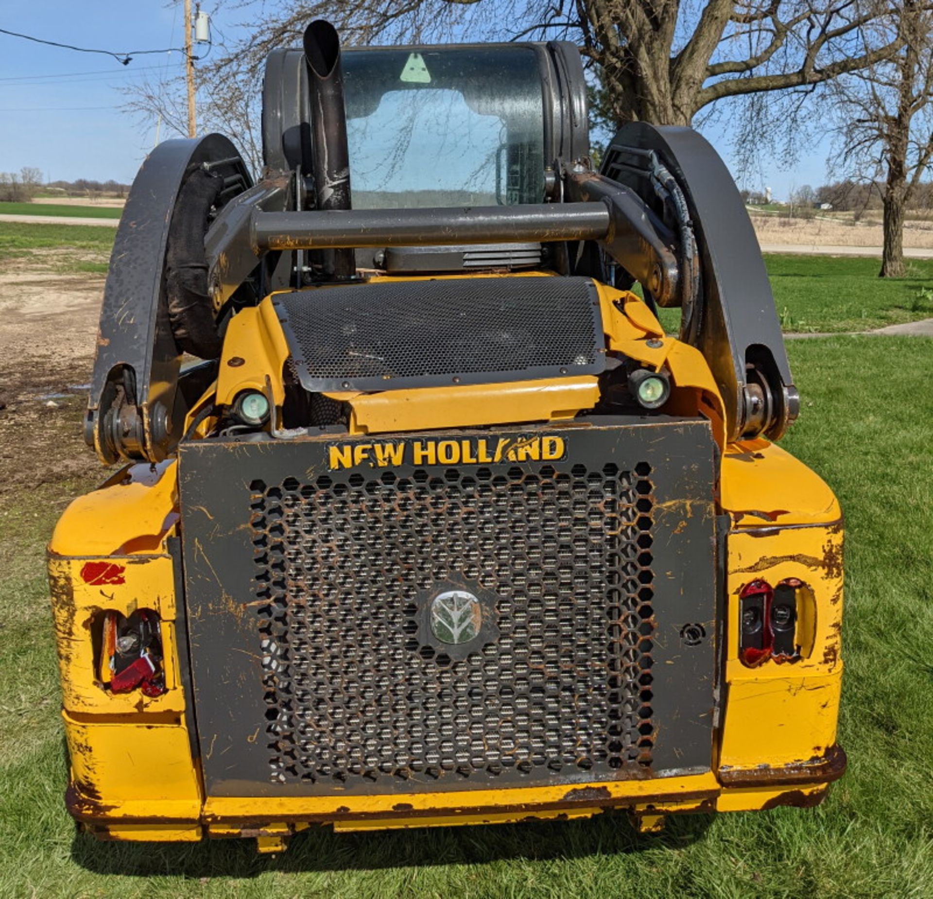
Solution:
{"label": "black fine-mesh screen on the sloped yellow engine hood", "polygon": [[558,378],[606,363],[588,278],[469,278],[318,287],[274,297],[310,391]]}

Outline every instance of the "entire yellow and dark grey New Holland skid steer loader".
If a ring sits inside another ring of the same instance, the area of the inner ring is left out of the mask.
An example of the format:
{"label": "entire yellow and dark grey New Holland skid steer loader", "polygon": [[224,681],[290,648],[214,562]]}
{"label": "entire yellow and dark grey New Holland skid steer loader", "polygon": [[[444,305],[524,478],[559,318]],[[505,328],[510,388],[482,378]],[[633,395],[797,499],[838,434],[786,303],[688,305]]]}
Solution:
{"label": "entire yellow and dark grey New Holland skid steer loader", "polygon": [[[146,159],[49,545],[100,837],[811,806],[842,518],[748,216],[683,128],[595,171],[578,49],[272,52],[254,183]],[[677,337],[658,307],[680,309]]]}

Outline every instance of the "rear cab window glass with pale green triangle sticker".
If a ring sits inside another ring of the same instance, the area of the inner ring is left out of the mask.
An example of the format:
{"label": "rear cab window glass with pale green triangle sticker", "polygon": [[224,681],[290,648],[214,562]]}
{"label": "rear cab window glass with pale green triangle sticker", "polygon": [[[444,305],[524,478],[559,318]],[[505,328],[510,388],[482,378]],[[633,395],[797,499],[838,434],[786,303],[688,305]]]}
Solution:
{"label": "rear cab window glass with pale green triangle sticker", "polygon": [[543,200],[532,48],[352,50],[343,66],[355,209]]}

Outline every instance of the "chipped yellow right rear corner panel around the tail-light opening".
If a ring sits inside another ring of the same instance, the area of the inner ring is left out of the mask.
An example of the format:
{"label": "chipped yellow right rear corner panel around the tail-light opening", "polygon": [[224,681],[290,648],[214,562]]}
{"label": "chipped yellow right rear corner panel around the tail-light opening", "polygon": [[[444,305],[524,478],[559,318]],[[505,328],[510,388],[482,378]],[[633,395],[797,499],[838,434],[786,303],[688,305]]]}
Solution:
{"label": "chipped yellow right rear corner panel around the tail-light opening", "polygon": [[[750,769],[826,754],[836,741],[842,684],[839,505],[814,472],[765,440],[729,448],[721,495],[733,527],[719,764]],[[798,578],[809,589],[799,661],[750,669],[739,659],[739,594],[757,578],[772,587]]]}

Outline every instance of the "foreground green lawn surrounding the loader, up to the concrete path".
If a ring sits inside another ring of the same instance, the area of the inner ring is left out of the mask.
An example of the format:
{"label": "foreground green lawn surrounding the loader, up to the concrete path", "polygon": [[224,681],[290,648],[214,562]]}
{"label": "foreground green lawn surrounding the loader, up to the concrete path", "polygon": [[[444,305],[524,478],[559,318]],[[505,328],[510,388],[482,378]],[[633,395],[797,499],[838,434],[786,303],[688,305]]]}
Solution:
{"label": "foreground green lawn surrounding the loader, up to the concrete path", "polygon": [[[28,501],[0,491],[0,895],[930,896],[933,340],[833,337],[795,341],[789,352],[802,410],[784,446],[829,481],[847,521],[840,740],[850,764],[821,807],[683,817],[662,837],[638,837],[608,816],[321,830],[274,859],[250,841],[77,837],[62,801],[41,556],[63,504],[90,484],[72,477],[29,491]],[[79,406],[59,425],[76,435]]]}

